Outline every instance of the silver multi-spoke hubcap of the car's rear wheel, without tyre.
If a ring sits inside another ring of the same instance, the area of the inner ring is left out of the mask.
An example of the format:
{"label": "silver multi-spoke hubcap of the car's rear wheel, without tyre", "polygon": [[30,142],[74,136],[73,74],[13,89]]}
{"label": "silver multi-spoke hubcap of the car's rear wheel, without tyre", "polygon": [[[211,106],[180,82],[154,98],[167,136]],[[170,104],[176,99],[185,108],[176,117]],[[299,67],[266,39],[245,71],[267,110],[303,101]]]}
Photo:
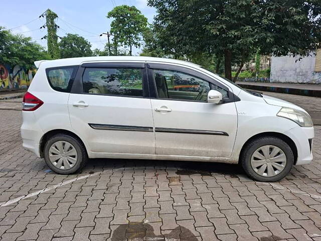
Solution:
{"label": "silver multi-spoke hubcap of the car's rear wheel, without tyre", "polygon": [[49,148],[49,160],[57,168],[68,170],[77,162],[77,151],[66,141],[58,141]]}

